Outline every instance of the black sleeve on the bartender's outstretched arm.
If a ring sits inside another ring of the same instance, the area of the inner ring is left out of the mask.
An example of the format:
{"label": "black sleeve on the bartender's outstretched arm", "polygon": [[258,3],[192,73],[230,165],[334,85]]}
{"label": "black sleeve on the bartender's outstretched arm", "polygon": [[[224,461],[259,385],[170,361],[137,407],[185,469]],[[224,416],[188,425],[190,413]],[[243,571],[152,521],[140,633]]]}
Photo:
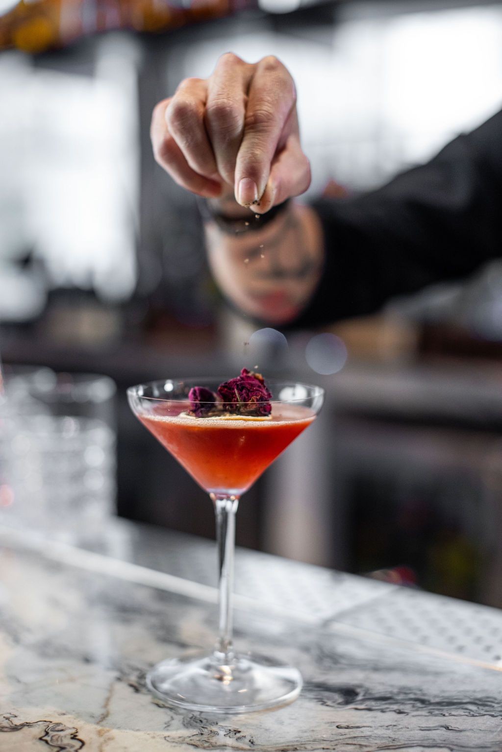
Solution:
{"label": "black sleeve on the bartender's outstretched arm", "polygon": [[431,162],[353,199],[314,204],[324,272],[293,326],[371,314],[502,255],[502,111]]}

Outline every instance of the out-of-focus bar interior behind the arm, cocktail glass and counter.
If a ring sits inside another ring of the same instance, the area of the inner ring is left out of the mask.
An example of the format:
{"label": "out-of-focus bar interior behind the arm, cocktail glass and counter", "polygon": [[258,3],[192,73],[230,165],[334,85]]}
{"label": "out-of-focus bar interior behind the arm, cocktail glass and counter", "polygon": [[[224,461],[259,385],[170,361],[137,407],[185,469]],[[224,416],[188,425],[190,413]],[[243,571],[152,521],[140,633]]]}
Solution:
{"label": "out-of-focus bar interior behind the arm, cocktail glass and counter", "polygon": [[500,108],[502,3],[0,0],[0,48],[2,520],[97,535],[116,511],[212,537],[125,390],[259,363],[327,404],[243,499],[238,543],[502,606],[502,263],[323,332],[257,330],[149,141],[182,78],[272,53],[297,82],[305,200],[371,189]]}

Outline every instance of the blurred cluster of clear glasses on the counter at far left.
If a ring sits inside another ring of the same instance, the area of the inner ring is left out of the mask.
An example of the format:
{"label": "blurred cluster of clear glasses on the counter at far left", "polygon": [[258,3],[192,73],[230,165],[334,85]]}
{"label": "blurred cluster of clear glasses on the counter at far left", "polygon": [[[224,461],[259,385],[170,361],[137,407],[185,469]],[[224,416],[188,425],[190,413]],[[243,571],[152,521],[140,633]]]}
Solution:
{"label": "blurred cluster of clear glasses on the counter at far left", "polygon": [[115,391],[94,374],[5,374],[2,523],[73,542],[99,535],[116,495]]}

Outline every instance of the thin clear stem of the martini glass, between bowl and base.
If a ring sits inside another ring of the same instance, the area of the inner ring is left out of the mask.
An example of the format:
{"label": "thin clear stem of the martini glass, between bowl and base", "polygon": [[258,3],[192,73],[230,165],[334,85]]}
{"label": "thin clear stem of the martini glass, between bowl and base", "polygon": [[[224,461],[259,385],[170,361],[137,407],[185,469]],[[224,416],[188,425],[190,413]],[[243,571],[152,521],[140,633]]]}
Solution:
{"label": "thin clear stem of the martini glass, between bowl and base", "polygon": [[232,596],[233,553],[236,541],[236,511],[238,496],[211,493],[216,514],[216,541],[218,543],[218,590],[220,622],[216,650],[232,657]]}

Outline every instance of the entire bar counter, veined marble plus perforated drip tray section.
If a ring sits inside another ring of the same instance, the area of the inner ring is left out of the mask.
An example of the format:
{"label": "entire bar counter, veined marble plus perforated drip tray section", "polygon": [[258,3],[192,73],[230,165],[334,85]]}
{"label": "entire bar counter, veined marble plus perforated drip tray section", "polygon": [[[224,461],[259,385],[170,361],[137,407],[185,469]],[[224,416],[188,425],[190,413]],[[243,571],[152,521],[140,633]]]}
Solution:
{"label": "entire bar counter, veined marble plus perforated drip tray section", "polygon": [[236,647],[303,673],[241,716],[167,708],[152,663],[209,650],[214,546],[117,522],[79,547],[0,531],[0,750],[502,750],[502,614],[238,550]]}

